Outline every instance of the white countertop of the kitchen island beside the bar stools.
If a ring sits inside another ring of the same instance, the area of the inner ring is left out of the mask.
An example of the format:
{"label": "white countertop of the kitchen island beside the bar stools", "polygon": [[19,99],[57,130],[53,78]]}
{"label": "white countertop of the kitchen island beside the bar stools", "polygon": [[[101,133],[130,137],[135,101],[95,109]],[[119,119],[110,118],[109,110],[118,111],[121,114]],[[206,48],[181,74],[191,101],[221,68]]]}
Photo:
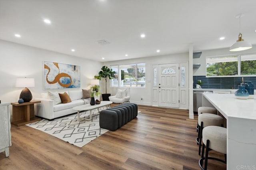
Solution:
{"label": "white countertop of the kitchen island beside the bar stools", "polygon": [[236,99],[234,94],[203,93],[220,113],[228,117],[256,120],[256,99]]}

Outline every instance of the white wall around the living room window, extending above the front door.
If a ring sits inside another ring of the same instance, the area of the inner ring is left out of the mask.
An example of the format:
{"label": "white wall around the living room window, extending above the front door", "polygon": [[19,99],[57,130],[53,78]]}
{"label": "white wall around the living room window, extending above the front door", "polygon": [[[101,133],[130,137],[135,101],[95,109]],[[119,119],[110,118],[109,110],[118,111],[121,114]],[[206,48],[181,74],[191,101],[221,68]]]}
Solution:
{"label": "white wall around the living room window, extending above the front door", "polygon": [[[146,63],[146,87],[131,87],[130,95],[131,102],[140,105],[152,105],[152,70],[151,66],[154,64],[166,64],[166,63],[178,63],[188,61],[188,53],[172,54],[172,55],[159,55],[153,57],[143,57],[137,59],[126,59],[118,61],[110,61],[104,63],[107,66],[110,65],[122,65],[132,63]],[[117,87],[111,87],[111,95],[115,95]],[[141,100],[142,98],[142,100]]]}

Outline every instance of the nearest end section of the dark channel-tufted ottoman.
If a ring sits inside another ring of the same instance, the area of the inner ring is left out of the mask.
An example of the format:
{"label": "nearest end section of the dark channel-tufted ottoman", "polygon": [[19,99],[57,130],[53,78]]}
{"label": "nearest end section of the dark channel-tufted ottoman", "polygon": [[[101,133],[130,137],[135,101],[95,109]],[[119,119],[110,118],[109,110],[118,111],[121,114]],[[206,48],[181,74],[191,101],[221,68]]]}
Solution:
{"label": "nearest end section of the dark channel-tufted ottoman", "polygon": [[115,131],[118,128],[118,115],[115,111],[100,111],[100,127]]}

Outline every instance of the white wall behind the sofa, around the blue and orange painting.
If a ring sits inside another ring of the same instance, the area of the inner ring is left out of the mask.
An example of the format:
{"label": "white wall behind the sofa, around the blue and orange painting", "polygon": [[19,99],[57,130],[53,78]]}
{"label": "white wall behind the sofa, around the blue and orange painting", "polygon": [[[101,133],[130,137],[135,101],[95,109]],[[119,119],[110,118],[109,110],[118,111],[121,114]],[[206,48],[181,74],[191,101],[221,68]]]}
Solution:
{"label": "white wall behind the sofa, around the blue and orange painting", "polygon": [[103,65],[98,61],[0,40],[0,100],[8,103],[18,101],[22,88],[15,87],[17,77],[35,79],[35,87],[29,87],[33,99],[40,98],[40,93],[47,92],[43,90],[43,61],[79,65],[80,89],[90,88],[90,80]]}

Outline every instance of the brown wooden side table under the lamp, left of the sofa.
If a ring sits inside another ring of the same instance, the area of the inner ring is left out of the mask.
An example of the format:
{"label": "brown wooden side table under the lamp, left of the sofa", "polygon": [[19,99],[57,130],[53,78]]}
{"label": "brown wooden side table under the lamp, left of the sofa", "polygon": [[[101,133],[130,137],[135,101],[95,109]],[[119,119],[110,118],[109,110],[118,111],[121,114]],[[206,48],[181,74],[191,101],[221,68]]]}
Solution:
{"label": "brown wooden side table under the lamp, left of the sofa", "polygon": [[35,117],[34,103],[41,103],[40,100],[32,100],[30,102],[11,103],[12,105],[12,125],[17,127],[26,125],[28,123],[40,121],[41,119]]}

